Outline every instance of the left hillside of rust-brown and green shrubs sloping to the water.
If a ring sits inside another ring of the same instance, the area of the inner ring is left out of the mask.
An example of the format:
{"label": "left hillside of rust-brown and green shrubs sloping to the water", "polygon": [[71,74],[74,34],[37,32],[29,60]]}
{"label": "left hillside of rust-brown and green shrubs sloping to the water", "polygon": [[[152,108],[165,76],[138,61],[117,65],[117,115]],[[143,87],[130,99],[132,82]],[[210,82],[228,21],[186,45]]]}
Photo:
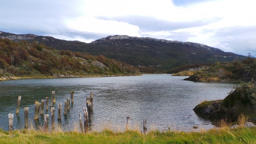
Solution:
{"label": "left hillside of rust-brown and green shrubs sloping to the water", "polygon": [[58,51],[36,42],[0,38],[0,80],[15,77],[86,77],[140,75],[123,62],[82,52]]}

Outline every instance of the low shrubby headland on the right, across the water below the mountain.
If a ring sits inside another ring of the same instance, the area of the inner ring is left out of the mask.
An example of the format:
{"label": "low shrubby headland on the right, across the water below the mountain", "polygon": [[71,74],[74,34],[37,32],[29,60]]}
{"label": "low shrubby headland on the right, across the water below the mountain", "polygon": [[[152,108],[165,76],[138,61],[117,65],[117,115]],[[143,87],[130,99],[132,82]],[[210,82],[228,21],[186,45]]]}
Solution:
{"label": "low shrubby headland on the right, across the water below the mountain", "polygon": [[189,68],[173,75],[189,76],[187,81],[250,81],[256,79],[256,58]]}

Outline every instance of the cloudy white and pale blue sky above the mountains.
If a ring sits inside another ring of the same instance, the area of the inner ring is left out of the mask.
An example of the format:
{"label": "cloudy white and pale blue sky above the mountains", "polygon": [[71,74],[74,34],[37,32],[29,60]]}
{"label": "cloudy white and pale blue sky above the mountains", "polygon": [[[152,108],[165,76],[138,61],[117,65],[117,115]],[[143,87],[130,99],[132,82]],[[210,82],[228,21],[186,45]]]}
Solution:
{"label": "cloudy white and pale blue sky above the mountains", "polygon": [[109,35],[256,57],[256,0],[2,0],[0,31],[90,43]]}

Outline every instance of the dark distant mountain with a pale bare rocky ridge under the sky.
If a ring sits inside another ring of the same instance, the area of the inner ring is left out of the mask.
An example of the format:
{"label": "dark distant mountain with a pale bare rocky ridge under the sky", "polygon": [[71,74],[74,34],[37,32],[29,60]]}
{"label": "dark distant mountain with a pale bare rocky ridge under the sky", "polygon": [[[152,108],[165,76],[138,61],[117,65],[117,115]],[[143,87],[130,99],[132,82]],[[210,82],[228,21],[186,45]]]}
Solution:
{"label": "dark distant mountain with a pale bare rocky ridge under the sky", "polygon": [[114,35],[95,40],[92,43],[59,40],[49,36],[32,34],[15,35],[1,32],[1,38],[29,42],[36,41],[58,50],[87,52],[90,55],[104,55],[132,66],[146,66],[162,70],[174,69],[186,64],[209,64],[243,60],[246,56],[224,52],[200,43],[162,40],[150,37],[129,37]]}

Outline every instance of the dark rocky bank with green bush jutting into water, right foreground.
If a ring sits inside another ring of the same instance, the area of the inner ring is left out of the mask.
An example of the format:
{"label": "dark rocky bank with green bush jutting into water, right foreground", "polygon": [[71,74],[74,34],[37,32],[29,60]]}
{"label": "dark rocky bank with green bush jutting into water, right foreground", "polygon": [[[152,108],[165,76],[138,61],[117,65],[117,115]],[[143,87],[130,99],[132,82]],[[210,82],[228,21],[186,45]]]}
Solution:
{"label": "dark rocky bank with green bush jutting into water, right foreground", "polygon": [[256,121],[256,82],[241,82],[224,100],[204,101],[193,109],[199,116],[218,120],[236,121],[239,115],[247,115]]}

